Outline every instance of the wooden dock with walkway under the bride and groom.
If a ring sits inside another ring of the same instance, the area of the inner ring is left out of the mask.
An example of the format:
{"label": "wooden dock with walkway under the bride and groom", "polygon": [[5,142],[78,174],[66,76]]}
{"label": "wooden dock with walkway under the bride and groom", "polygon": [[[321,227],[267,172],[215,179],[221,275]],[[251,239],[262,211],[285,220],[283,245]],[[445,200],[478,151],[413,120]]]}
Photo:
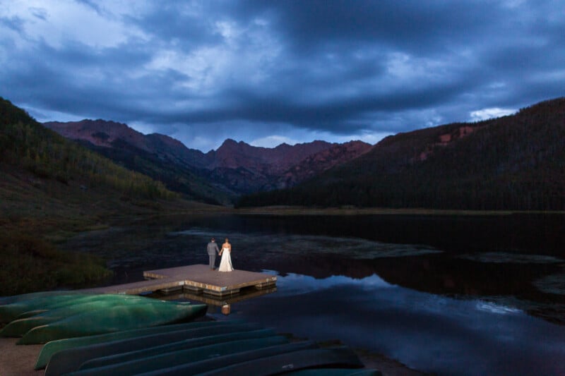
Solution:
{"label": "wooden dock with walkway under the bride and groom", "polygon": [[208,265],[189,265],[143,272],[145,281],[89,289],[99,293],[124,293],[136,295],[150,291],[185,289],[210,296],[230,296],[241,289],[272,289],[277,277],[245,270],[218,272]]}

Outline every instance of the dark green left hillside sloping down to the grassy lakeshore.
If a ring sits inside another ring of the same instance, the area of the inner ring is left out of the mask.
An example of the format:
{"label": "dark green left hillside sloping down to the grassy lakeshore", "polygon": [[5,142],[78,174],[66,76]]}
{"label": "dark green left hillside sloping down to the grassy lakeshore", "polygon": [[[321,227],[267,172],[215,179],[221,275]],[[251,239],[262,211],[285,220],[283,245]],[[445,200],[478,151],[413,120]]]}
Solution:
{"label": "dark green left hillside sloping down to the grassy lakeshore", "polygon": [[[57,241],[157,212],[177,194],[44,128],[0,98],[0,296],[107,277],[93,255]],[[172,205],[171,205],[172,206]]]}

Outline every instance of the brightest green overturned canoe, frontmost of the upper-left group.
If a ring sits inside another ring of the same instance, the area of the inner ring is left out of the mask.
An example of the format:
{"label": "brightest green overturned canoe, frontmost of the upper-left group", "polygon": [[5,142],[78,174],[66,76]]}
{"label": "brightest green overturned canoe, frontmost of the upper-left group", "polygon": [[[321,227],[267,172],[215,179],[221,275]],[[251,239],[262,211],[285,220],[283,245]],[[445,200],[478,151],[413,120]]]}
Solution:
{"label": "brightest green overturned canoe, frontmost of the upper-left group", "polygon": [[[151,299],[148,299],[151,300]],[[44,344],[54,339],[118,332],[154,327],[182,320],[194,320],[206,313],[206,304],[183,304],[165,301],[119,305],[112,308],[79,313],[48,325],[35,327],[17,344]]]}

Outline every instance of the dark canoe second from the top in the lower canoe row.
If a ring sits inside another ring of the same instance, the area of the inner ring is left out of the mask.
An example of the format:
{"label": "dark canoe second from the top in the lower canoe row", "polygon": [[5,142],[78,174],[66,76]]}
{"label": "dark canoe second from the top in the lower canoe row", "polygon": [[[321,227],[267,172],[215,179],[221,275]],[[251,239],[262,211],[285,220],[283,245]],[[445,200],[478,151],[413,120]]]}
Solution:
{"label": "dark canoe second from the top in the lower canoe row", "polygon": [[[165,326],[166,327],[166,326]],[[44,375],[61,375],[67,372],[78,370],[81,364],[94,358],[103,356],[111,356],[129,351],[138,351],[150,347],[171,344],[182,340],[194,340],[193,344],[199,344],[201,339],[208,341],[210,336],[218,336],[220,334],[227,335],[231,333],[241,333],[258,329],[257,325],[249,324],[222,324],[201,327],[196,329],[179,330],[175,332],[150,334],[147,336],[138,336],[130,339],[122,339],[107,343],[93,344],[90,346],[82,346],[78,348],[68,348],[64,351],[54,353]],[[202,337],[206,337],[205,339]],[[214,338],[214,341],[218,338]],[[206,342],[207,343],[207,342]]]}

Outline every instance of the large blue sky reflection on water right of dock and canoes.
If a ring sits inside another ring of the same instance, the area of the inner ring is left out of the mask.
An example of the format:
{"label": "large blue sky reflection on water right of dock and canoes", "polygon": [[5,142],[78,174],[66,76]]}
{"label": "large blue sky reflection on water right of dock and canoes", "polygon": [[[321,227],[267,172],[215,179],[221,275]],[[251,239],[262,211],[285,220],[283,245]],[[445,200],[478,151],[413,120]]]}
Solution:
{"label": "large blue sky reflection on water right of dock and canoes", "polygon": [[341,339],[444,375],[565,375],[565,327],[518,308],[388,284],[377,275],[288,274],[232,316],[311,339]]}

